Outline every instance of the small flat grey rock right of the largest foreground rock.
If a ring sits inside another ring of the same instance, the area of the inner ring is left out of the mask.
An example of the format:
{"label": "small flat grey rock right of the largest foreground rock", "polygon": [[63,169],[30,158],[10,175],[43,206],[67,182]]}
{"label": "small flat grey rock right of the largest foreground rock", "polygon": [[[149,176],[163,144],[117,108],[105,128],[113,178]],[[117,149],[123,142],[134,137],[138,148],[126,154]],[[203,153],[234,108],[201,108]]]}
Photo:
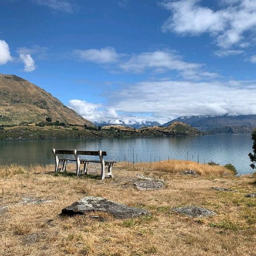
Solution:
{"label": "small flat grey rock right of the largest foreground rock", "polygon": [[172,212],[177,212],[180,214],[185,214],[188,217],[196,217],[196,218],[203,218],[208,216],[213,216],[216,212],[212,212],[208,209],[200,208],[197,206],[185,206],[179,208],[173,208]]}

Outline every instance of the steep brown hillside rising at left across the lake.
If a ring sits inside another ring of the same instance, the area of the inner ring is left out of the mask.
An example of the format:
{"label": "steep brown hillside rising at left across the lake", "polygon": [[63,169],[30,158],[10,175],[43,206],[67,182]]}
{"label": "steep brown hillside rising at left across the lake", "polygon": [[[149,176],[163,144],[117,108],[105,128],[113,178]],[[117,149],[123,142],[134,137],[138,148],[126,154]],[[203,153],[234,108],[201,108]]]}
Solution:
{"label": "steep brown hillside rising at left across the lake", "polygon": [[47,117],[94,126],[42,88],[18,76],[0,74],[0,124],[35,123]]}

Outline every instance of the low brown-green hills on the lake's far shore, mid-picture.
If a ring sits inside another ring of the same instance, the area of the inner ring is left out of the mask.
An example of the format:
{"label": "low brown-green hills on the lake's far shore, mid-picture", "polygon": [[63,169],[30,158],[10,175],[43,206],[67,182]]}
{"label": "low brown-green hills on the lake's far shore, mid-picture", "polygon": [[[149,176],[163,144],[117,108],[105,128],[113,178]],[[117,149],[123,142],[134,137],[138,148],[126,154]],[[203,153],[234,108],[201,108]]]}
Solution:
{"label": "low brown-green hills on the lake's far shore, mid-picture", "polygon": [[149,126],[140,129],[122,126],[110,125],[103,126],[102,130],[112,132],[116,136],[186,136],[186,135],[202,135],[202,132],[183,122],[173,122],[168,127]]}

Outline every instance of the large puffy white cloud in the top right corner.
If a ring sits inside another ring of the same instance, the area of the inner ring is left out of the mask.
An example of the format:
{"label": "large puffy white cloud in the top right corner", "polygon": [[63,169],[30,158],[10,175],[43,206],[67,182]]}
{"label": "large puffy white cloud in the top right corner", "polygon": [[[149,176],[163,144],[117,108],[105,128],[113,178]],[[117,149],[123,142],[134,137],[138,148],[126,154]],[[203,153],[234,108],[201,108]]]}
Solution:
{"label": "large puffy white cloud in the top right corner", "polygon": [[[162,26],[163,31],[173,31],[178,34],[198,36],[208,33],[218,46],[229,48],[240,43],[245,47],[245,33],[254,35],[256,29],[255,0],[222,0],[222,8],[212,10],[200,6],[201,0],[178,0],[163,2],[162,6],[172,12],[172,15]],[[255,39],[255,37],[254,37]]]}

